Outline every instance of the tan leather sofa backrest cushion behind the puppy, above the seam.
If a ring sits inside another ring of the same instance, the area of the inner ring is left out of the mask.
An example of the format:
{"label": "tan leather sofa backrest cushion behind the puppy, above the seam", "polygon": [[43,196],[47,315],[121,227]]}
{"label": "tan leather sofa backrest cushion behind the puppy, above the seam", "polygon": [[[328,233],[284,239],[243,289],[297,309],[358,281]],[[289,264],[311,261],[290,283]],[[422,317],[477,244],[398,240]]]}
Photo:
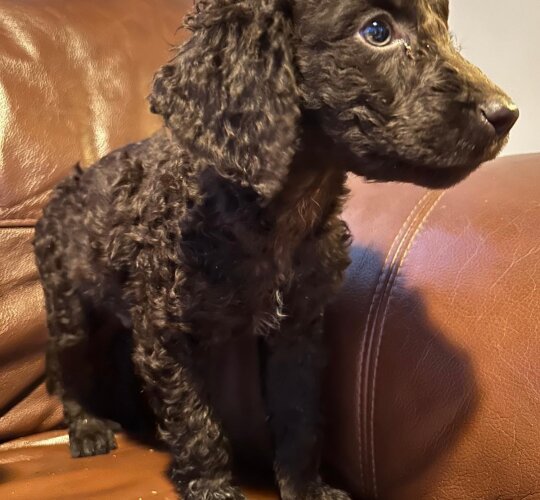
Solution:
{"label": "tan leather sofa backrest cushion behind the puppy, above the seam", "polygon": [[37,217],[76,162],[159,126],[144,98],[191,3],[0,1],[0,220]]}

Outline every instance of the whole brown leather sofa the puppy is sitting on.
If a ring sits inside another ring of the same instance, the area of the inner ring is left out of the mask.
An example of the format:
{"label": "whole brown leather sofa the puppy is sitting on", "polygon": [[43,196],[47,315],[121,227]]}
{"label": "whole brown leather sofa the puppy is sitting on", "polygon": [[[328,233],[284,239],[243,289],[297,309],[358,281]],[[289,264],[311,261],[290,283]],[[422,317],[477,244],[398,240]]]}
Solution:
{"label": "whole brown leather sofa the puppy is sitting on", "polygon": [[[145,95],[190,4],[0,0],[0,499],[174,498],[167,457],[148,445],[69,457],[43,384],[31,239],[72,165],[159,126]],[[353,264],[327,318],[325,470],[356,498],[540,498],[540,155],[448,191],[350,186]],[[235,443],[262,460],[251,349],[220,352],[216,383]]]}

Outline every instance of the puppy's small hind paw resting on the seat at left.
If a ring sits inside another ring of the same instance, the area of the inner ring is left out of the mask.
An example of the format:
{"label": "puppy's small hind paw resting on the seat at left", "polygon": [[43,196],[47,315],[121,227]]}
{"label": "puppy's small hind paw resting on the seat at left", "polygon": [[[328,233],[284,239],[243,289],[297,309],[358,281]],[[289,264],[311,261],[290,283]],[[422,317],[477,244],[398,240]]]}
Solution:
{"label": "puppy's small hind paw resting on the seat at left", "polygon": [[69,448],[73,458],[105,455],[116,447],[114,432],[106,422],[92,417],[71,422]]}

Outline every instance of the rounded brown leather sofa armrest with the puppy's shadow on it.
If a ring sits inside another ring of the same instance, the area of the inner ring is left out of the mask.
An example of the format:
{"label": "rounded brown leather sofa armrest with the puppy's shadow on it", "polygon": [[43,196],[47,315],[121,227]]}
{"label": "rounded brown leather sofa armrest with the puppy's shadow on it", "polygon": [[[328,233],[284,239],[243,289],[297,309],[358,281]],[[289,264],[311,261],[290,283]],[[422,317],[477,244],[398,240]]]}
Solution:
{"label": "rounded brown leather sofa armrest with the puppy's shadow on it", "polygon": [[448,191],[350,185],[328,461],[367,498],[540,494],[540,155]]}

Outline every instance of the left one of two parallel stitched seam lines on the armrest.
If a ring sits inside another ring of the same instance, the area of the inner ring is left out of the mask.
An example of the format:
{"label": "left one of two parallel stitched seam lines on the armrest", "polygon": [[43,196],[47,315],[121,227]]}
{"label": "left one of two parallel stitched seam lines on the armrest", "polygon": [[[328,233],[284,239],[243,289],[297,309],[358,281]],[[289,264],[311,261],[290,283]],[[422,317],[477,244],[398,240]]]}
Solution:
{"label": "left one of two parallel stitched seam lines on the armrest", "polygon": [[359,401],[359,405],[357,408],[356,413],[356,428],[358,432],[356,433],[356,446],[357,446],[357,453],[360,457],[360,485],[362,488],[362,491],[367,492],[368,485],[366,484],[366,478],[364,473],[364,468],[366,470],[369,470],[369,456],[366,456],[367,451],[365,450],[365,447],[362,446],[362,443],[365,442],[367,444],[367,426],[366,426],[366,420],[363,418],[365,416],[364,412],[364,398],[363,394],[365,393],[365,390],[363,388],[365,376],[364,376],[364,359],[366,356],[366,353],[369,353],[369,351],[366,349],[367,343],[368,343],[368,336],[370,333],[373,332],[373,328],[370,328],[371,326],[371,320],[373,317],[373,312],[375,310],[375,304],[378,302],[381,290],[383,289],[383,283],[384,278],[387,274],[388,270],[388,262],[391,260],[391,257],[394,253],[394,248],[399,243],[399,241],[403,238],[403,234],[407,231],[407,228],[409,227],[409,224],[411,223],[412,219],[416,216],[417,212],[421,209],[423,204],[425,203],[425,200],[430,196],[430,193],[427,192],[418,202],[416,205],[412,208],[412,210],[409,213],[409,216],[401,226],[400,230],[396,234],[396,237],[394,238],[394,241],[392,242],[390,249],[388,250],[388,253],[385,258],[385,262],[383,266],[381,267],[379,278],[377,280],[377,285],[375,288],[375,291],[373,292],[373,296],[371,299],[368,316],[366,319],[364,332],[362,336],[362,342],[360,346],[360,353],[358,355],[357,363],[358,366],[358,372],[357,372],[357,380],[356,380],[356,400]]}

